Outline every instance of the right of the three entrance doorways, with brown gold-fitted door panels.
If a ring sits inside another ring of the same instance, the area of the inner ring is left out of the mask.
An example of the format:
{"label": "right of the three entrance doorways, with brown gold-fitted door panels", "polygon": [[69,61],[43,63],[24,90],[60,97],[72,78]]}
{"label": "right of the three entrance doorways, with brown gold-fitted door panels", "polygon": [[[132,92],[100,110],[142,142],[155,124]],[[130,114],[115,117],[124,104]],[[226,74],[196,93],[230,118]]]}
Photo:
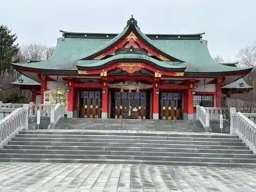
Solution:
{"label": "right of the three entrance doorways, with brown gold-fitted door panels", "polygon": [[159,119],[182,119],[182,93],[160,92]]}

